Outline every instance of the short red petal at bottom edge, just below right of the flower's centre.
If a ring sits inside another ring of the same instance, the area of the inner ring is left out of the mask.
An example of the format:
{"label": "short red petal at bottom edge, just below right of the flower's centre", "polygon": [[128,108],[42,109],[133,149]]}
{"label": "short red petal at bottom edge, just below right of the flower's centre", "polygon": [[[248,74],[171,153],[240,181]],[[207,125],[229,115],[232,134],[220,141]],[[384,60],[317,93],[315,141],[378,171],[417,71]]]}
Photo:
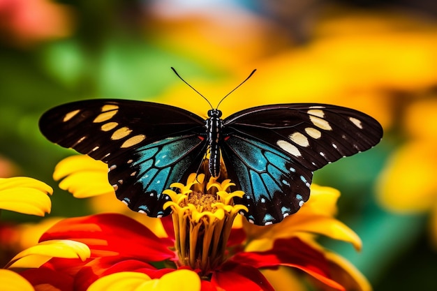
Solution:
{"label": "short red petal at bottom edge, just below right of the flower's centre", "polygon": [[211,283],[226,291],[274,291],[258,269],[231,261],[212,274]]}

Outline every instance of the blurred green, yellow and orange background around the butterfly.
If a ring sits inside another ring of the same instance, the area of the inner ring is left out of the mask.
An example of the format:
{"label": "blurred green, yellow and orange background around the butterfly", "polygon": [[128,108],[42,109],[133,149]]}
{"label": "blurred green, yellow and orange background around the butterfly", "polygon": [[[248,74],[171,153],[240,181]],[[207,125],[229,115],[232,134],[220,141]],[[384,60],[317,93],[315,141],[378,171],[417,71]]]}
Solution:
{"label": "blurred green, yellow and orange background around the butterfly", "polygon": [[[213,105],[257,68],[223,102],[225,114],[323,102],[383,124],[376,148],[315,174],[341,191],[339,219],[364,248],[325,245],[375,290],[437,290],[436,16],[432,0],[0,0],[0,177],[53,186],[50,216],[89,214],[87,200],[52,180],[73,152],[39,133],[45,110],[128,98],[205,114],[170,66]],[[1,213],[3,223],[38,219]]]}

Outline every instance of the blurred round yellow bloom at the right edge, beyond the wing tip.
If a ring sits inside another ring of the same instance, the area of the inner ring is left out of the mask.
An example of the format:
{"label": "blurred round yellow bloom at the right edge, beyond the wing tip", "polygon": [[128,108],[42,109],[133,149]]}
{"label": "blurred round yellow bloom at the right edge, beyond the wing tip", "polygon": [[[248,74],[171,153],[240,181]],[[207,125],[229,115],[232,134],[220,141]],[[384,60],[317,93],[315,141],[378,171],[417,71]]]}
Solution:
{"label": "blurred round yellow bloom at the right edge, beyond the wing tip", "polygon": [[408,137],[392,153],[377,185],[380,204],[398,213],[431,212],[437,246],[437,98],[417,100],[404,112]]}

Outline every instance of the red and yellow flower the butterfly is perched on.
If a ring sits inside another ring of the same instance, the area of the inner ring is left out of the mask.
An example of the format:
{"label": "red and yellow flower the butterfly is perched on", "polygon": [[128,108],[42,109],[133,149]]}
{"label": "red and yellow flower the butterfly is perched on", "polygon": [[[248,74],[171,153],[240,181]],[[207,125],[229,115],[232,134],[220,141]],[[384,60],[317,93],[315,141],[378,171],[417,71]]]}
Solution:
{"label": "red and yellow flower the butterfly is perched on", "polygon": [[[23,261],[27,256],[18,255],[10,264],[33,266],[20,273],[32,285],[47,282],[63,291],[108,290],[106,286],[112,288],[109,290],[116,290],[114,286],[123,290],[170,290],[175,288],[175,280],[182,290],[184,286],[191,286],[190,290],[274,290],[260,270],[273,270],[269,276],[274,276],[280,266],[304,271],[325,288],[344,290],[353,285],[356,290],[370,290],[353,267],[314,241],[314,234],[330,235],[329,230],[341,230],[333,232],[335,239],[360,248],[356,235],[332,218],[338,191],[316,187],[316,198],[301,209],[303,217],[299,218],[299,211],[283,221],[283,226],[290,226],[292,221],[308,218],[307,227],[257,227],[242,223],[237,215],[244,206],[232,204],[232,197],[242,193],[229,193],[229,180],[212,178],[205,183],[203,179],[202,174],[191,174],[186,184],[172,185],[177,191],[165,191],[172,198],[165,205],[172,208],[172,217],[154,219],[161,221],[165,236],[122,214],[66,218],[43,234],[36,251],[24,254],[40,255],[38,250],[48,251],[62,241],[75,241],[87,246],[84,250],[89,249],[89,256],[77,251],[80,247],[75,250],[82,256],[73,251],[71,257],[65,252],[64,258],[52,258],[56,252],[50,252],[45,253],[50,260],[44,263],[39,258],[38,264],[34,260],[32,265]],[[201,204],[196,193],[207,194]],[[319,209],[318,203],[326,205]],[[234,218],[238,219],[232,223]],[[69,287],[53,278],[62,278]]]}

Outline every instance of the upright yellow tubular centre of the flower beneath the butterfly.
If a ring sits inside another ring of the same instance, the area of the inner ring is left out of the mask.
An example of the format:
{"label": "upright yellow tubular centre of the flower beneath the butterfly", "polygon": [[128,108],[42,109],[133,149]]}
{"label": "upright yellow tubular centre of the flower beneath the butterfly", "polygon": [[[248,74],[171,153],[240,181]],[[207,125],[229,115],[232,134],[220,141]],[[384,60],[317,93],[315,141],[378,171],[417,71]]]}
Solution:
{"label": "upright yellow tubular centre of the flower beneath the butterfly", "polygon": [[243,205],[233,204],[232,198],[244,193],[228,193],[228,188],[234,185],[230,180],[220,183],[210,178],[205,185],[204,179],[204,174],[191,174],[186,185],[171,185],[179,188],[179,193],[170,189],[163,192],[172,199],[164,208],[172,208],[177,264],[198,269],[201,276],[207,276],[225,261],[225,247],[235,216],[239,211],[247,211]]}

